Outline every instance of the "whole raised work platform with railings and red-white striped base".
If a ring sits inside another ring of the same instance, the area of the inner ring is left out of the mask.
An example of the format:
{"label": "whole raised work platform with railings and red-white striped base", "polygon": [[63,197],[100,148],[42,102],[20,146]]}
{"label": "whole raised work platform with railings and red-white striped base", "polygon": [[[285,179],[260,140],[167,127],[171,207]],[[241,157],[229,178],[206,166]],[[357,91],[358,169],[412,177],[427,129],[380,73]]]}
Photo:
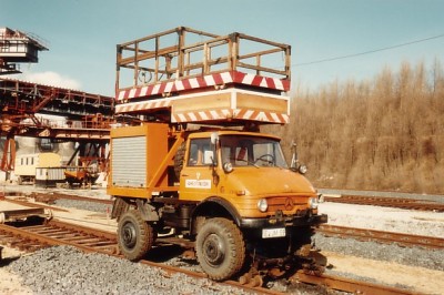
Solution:
{"label": "whole raised work platform with railings and red-white striped base", "polygon": [[172,123],[289,122],[291,47],[180,27],[118,45],[115,113]]}

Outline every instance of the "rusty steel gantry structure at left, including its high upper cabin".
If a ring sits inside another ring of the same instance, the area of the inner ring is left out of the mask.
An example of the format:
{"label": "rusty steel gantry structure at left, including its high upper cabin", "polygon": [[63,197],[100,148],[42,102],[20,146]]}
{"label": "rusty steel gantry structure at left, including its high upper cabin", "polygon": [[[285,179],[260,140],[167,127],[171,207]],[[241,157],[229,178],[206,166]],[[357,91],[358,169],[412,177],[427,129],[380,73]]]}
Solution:
{"label": "rusty steel gantry structure at left, including its high upper cabin", "polygon": [[[41,38],[0,28],[0,74],[20,73],[19,63],[38,62],[39,51],[44,50],[48,48]],[[0,135],[6,138],[1,171],[14,169],[14,136],[75,142],[70,162],[79,155],[84,165],[95,159],[105,166],[109,128],[117,121],[113,98],[0,78]],[[51,121],[42,114],[64,120]]]}

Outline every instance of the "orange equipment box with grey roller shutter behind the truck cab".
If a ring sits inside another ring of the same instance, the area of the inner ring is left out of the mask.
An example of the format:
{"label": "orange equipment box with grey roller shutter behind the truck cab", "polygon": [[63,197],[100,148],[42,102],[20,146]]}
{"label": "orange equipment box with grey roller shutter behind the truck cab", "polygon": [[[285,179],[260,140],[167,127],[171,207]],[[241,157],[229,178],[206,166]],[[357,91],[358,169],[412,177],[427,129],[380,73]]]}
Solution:
{"label": "orange equipment box with grey roller shutter behind the truck cab", "polygon": [[[150,183],[168,154],[168,124],[163,123],[111,129],[108,194],[151,196]],[[167,175],[151,185],[167,186]]]}

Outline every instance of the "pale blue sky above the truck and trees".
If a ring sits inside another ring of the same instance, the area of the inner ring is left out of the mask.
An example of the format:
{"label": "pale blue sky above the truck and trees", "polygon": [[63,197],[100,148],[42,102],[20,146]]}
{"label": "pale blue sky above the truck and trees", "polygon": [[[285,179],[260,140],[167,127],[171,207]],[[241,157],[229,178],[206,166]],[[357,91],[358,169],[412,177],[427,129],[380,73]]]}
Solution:
{"label": "pale blue sky above the truck and trees", "polygon": [[297,65],[444,34],[444,0],[0,0],[0,27],[49,41],[23,75],[113,95],[115,44],[180,26],[242,32],[292,45],[292,82],[315,90],[371,79],[403,61],[444,64],[444,37],[354,58]]}

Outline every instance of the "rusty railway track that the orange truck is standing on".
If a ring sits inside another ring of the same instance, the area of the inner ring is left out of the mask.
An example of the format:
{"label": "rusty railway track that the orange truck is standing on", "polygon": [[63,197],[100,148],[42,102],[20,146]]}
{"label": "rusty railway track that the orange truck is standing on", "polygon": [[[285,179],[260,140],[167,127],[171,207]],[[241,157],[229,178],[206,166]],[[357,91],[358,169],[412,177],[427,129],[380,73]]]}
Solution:
{"label": "rusty railway track that the orange truck is standing on", "polygon": [[[168,240],[162,240],[162,243],[167,242]],[[54,220],[42,224],[18,224],[18,226],[0,224],[0,243],[27,252],[33,252],[47,246],[70,245],[87,253],[93,252],[122,257],[119,255],[115,234]],[[162,263],[145,260],[141,261],[141,263],[164,268],[170,273],[183,273],[198,278],[206,277],[204,273],[192,272]],[[291,279],[354,294],[414,294],[401,288],[359,282],[344,277],[310,275],[303,272],[299,272]],[[235,281],[223,282],[223,284],[259,294],[282,294],[281,292],[258,286],[258,282],[254,279],[248,284],[241,284]]]}

